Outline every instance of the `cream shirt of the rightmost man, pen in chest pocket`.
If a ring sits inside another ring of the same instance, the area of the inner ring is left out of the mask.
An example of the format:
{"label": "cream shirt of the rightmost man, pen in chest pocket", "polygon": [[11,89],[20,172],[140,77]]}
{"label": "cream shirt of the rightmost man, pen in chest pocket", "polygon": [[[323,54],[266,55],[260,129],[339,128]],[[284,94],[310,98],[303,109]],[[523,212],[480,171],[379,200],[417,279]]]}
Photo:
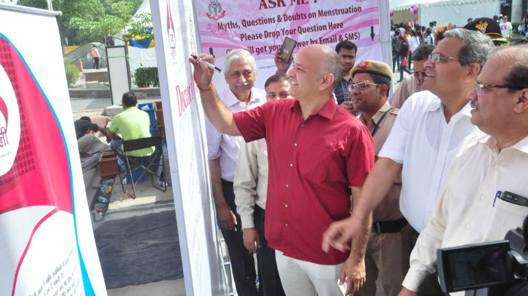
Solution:
{"label": "cream shirt of the rightmost man, pen in chest pocket", "polygon": [[440,247],[499,241],[508,230],[522,227],[528,207],[495,196],[497,191],[509,191],[528,198],[527,167],[528,137],[499,152],[489,135],[468,136],[453,159],[431,221],[411,253],[403,286],[418,291],[425,276],[435,271]]}

